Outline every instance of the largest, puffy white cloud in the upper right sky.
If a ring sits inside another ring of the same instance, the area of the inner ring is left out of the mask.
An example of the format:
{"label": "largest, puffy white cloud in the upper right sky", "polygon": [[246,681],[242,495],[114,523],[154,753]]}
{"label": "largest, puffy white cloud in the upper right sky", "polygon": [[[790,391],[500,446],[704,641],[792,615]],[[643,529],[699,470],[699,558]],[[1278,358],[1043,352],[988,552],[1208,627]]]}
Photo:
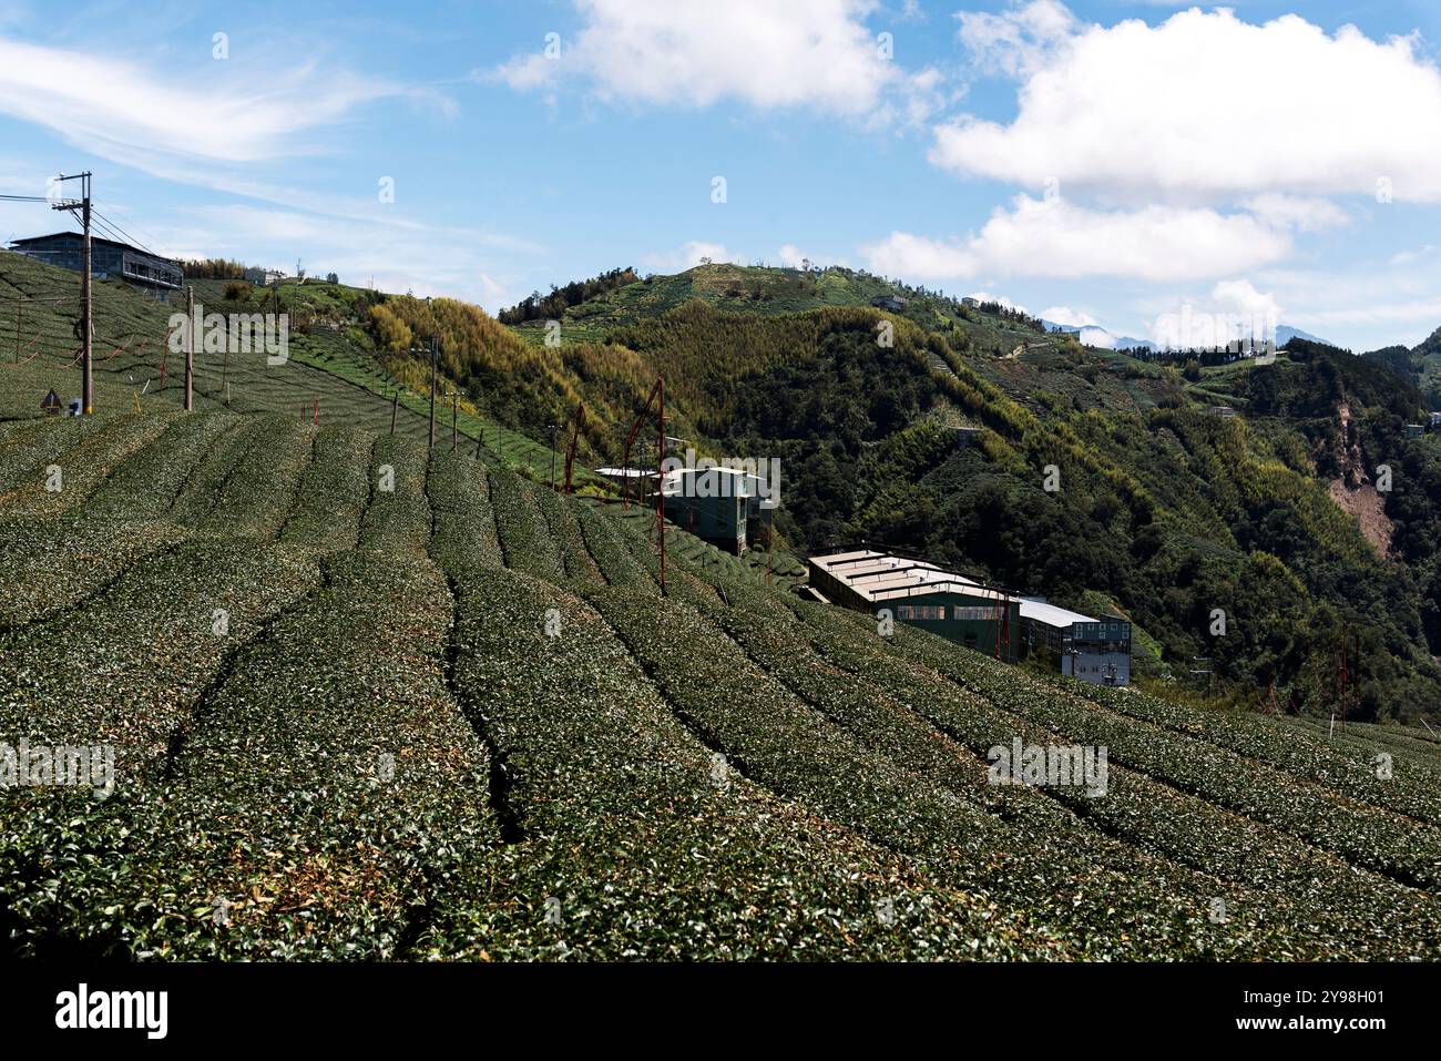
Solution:
{"label": "largest, puffy white cloud in the upper right sky", "polygon": [[[977,58],[1023,78],[1010,124],[965,115],[931,159],[1111,202],[1238,202],[1268,192],[1441,202],[1441,71],[1412,37],[1327,35],[1300,16],[1226,9],[1159,26],[1081,26],[1050,0],[963,16]],[[1006,58],[997,59],[997,53]]]}

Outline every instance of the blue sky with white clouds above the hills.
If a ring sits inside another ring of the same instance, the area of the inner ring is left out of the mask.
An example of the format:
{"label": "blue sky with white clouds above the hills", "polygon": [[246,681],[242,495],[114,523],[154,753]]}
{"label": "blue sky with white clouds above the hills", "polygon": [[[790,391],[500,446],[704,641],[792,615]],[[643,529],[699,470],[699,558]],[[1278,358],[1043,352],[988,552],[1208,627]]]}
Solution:
{"label": "blue sky with white clouds above the hills", "polygon": [[[0,190],[92,169],[157,251],[491,310],[615,265],[807,257],[1133,336],[1186,307],[1414,345],[1441,326],[1437,22],[1304,0],[0,0]],[[0,238],[58,222],[0,205]]]}

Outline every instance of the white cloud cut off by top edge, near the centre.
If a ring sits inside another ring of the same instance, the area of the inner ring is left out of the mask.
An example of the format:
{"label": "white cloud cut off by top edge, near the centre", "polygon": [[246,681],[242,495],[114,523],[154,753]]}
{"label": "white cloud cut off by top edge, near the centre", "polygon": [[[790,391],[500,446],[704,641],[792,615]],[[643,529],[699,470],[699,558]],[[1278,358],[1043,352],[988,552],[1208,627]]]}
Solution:
{"label": "white cloud cut off by top edge, near the centre", "polygon": [[865,19],[873,0],[575,0],[585,23],[559,55],[491,72],[516,89],[588,81],[604,99],[818,107],[862,115],[904,81]]}

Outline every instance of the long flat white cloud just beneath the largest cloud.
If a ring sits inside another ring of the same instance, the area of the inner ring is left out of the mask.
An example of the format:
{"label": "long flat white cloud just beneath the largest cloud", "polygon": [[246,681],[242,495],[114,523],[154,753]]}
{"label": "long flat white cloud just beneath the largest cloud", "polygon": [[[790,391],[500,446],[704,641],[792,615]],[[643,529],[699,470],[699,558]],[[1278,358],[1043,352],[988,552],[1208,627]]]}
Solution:
{"label": "long flat white cloud just beneath the largest cloud", "polygon": [[1176,281],[1221,277],[1236,262],[1264,265],[1290,249],[1284,229],[1249,213],[1177,206],[1094,210],[1022,195],[964,242],[892,232],[862,252],[873,271],[921,281],[980,272]]}

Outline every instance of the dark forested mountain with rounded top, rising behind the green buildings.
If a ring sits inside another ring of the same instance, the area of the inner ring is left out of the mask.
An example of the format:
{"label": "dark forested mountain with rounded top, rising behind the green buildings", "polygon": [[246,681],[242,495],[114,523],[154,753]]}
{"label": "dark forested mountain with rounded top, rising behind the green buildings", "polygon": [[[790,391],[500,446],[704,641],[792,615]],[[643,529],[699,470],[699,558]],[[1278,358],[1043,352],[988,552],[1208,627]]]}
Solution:
{"label": "dark forested mountain with rounded top, rising behind the green buildings", "polygon": [[[905,301],[870,306],[885,294]],[[664,373],[673,434],[780,457],[797,551],[867,539],[1108,601],[1159,642],[1160,673],[1208,657],[1241,703],[1441,702],[1441,454],[1405,438],[1418,388],[1300,339],[1274,363],[1138,359],[999,310],[846,270],[699,267],[572,307],[555,355],[611,411]],[[545,349],[542,327],[517,334]],[[958,425],[984,430],[965,445]],[[1389,549],[1357,523],[1368,505]]]}

